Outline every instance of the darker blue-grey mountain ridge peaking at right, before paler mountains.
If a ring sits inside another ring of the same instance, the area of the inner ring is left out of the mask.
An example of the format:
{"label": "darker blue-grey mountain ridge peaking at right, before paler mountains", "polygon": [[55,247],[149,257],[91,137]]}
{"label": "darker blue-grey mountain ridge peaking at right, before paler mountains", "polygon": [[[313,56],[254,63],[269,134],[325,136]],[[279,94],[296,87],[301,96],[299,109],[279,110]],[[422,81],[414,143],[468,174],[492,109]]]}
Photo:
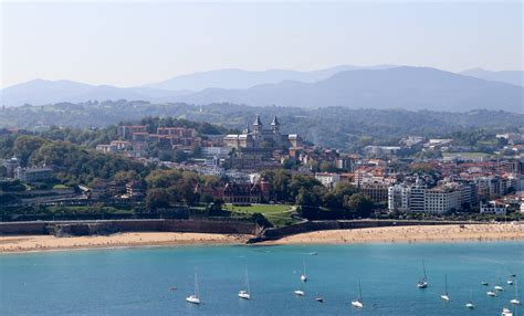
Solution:
{"label": "darker blue-grey mountain ridge peaking at right, before paler mountains", "polygon": [[337,73],[315,83],[282,82],[247,89],[209,88],[180,96],[190,104],[522,112],[524,88],[429,67],[399,66]]}

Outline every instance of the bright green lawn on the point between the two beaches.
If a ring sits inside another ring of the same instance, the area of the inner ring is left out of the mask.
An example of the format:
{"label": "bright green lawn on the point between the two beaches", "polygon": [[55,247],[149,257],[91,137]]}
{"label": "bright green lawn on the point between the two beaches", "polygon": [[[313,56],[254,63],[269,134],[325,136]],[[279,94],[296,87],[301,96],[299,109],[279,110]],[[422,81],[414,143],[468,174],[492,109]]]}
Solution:
{"label": "bright green lawn on the point between the two beaches", "polygon": [[292,219],[295,207],[284,204],[252,204],[252,206],[233,206],[224,204],[223,208],[239,214],[263,214],[274,227],[285,227],[296,222]]}

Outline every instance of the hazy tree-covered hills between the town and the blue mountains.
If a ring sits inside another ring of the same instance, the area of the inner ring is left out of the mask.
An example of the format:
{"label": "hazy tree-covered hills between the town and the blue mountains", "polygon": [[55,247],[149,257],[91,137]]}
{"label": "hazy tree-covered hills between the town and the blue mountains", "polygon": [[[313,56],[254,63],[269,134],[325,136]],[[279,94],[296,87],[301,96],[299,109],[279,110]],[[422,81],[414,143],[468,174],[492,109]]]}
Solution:
{"label": "hazy tree-covered hills between the town and the blue mountains", "polygon": [[[516,131],[523,114],[502,110],[447,113],[404,109],[348,109],[328,107],[303,109],[294,107],[250,107],[233,104],[196,106],[188,104],[149,104],[146,102],[62,103],[48,106],[23,106],[0,110],[0,127],[46,129],[60,127],[106,127],[119,122],[144,117],[172,116],[192,122],[207,122],[226,128],[244,128],[261,115],[269,124],[279,116],[283,133],[298,133],[307,140],[328,147],[350,149],[358,141],[392,144],[408,135],[440,137],[455,131],[483,129]],[[209,126],[208,126],[209,127]],[[202,130],[202,133],[210,130]],[[212,130],[224,131],[224,130]]]}

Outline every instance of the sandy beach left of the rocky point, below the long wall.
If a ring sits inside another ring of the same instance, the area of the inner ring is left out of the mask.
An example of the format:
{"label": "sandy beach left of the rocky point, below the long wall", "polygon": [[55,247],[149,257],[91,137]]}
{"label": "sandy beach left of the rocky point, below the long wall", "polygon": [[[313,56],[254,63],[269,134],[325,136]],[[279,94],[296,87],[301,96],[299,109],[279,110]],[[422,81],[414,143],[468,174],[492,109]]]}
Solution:
{"label": "sandy beach left of the rocky point, below the long wall", "polygon": [[53,235],[0,236],[0,253],[146,245],[244,244],[251,235],[137,232],[113,235],[55,238]]}

